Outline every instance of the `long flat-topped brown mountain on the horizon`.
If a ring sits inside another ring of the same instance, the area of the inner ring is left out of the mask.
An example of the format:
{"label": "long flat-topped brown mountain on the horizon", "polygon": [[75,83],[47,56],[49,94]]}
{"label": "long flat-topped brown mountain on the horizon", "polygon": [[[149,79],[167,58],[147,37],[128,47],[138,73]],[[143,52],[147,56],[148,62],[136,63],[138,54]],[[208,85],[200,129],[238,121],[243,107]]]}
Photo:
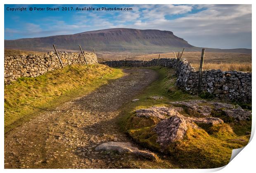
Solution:
{"label": "long flat-topped brown mountain on the horizon", "polygon": [[[180,51],[201,51],[187,41],[166,30],[139,30],[130,28],[112,28],[88,31],[73,35],[55,35],[50,37],[5,40],[5,49],[23,49],[32,51],[51,51],[52,44],[58,50],[79,51],[80,44],[85,50],[95,48],[97,52],[141,52],[164,53]],[[251,53],[251,49],[211,49],[213,52]]]}

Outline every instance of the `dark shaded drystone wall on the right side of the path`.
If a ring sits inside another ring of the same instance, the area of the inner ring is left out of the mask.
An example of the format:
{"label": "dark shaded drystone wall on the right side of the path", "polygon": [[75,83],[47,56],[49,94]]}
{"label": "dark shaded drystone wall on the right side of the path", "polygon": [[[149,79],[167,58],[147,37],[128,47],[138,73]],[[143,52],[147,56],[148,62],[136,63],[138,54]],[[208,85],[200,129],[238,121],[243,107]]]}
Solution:
{"label": "dark shaded drystone wall on the right side of the path", "polygon": [[[104,64],[111,67],[155,66],[160,65],[175,68],[175,58],[153,59],[151,61],[107,61]],[[197,94],[199,72],[187,60],[178,63],[176,85],[190,94]],[[202,72],[202,94],[211,95],[226,101],[251,103],[251,72],[236,70],[204,70]]]}

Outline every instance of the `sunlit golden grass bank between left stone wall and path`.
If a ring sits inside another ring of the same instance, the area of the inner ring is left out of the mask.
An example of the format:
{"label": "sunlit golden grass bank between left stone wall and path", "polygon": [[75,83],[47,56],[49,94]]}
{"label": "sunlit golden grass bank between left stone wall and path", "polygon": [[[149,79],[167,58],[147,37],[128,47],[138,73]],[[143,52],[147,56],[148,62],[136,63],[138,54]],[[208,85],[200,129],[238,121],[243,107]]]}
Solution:
{"label": "sunlit golden grass bank between left stone wall and path", "polygon": [[69,65],[35,78],[21,77],[5,86],[5,133],[122,75],[121,69],[95,64]]}

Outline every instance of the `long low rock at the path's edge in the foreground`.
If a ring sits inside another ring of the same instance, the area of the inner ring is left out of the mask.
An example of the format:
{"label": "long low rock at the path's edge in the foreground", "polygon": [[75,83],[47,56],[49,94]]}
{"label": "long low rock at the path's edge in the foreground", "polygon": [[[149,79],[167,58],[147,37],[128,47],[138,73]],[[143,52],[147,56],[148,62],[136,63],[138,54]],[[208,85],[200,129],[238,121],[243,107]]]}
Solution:
{"label": "long low rock at the path's edge in the foreground", "polygon": [[158,161],[158,157],[156,154],[145,150],[139,150],[137,147],[133,147],[131,143],[108,142],[97,146],[95,150],[104,150],[107,152],[115,151],[118,152],[119,154],[130,153],[136,155],[137,157],[143,157],[145,159]]}

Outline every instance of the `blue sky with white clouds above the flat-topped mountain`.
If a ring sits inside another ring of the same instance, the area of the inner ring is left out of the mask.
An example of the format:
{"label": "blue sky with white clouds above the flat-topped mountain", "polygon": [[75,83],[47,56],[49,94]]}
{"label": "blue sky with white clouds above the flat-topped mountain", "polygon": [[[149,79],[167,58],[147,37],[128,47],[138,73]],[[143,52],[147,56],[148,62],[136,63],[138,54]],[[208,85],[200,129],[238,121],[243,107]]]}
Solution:
{"label": "blue sky with white clouds above the flat-topped mountain", "polygon": [[[26,11],[8,10],[19,7]],[[59,11],[47,11],[47,7],[59,7]],[[97,11],[102,7],[132,10]],[[251,49],[251,11],[251,5],[5,5],[5,40],[136,28],[169,30],[197,47]]]}

